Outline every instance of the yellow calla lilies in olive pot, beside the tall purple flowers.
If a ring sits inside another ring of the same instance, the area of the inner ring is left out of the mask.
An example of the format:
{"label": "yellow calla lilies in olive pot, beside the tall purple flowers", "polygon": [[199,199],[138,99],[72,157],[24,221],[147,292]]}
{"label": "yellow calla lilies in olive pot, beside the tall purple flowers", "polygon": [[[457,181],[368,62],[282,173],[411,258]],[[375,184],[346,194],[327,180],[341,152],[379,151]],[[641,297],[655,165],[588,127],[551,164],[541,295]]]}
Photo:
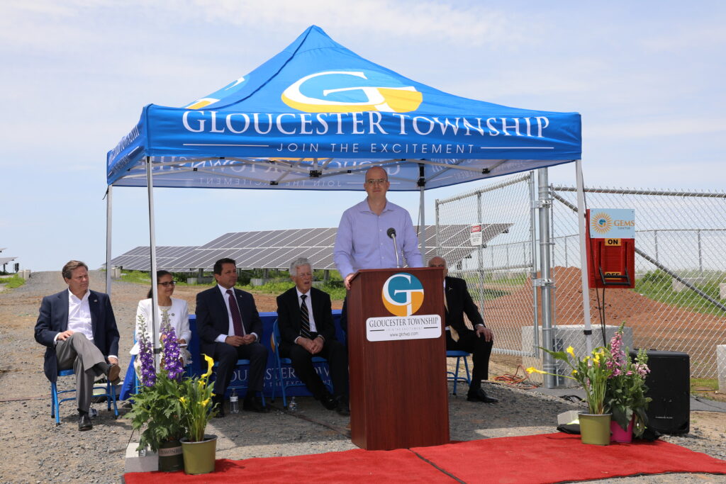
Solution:
{"label": "yellow calla lilies in olive pot, beside the tall purple flowers", "polygon": [[205,435],[209,420],[216,414],[213,410],[212,387],[208,384],[214,361],[204,356],[207,372],[200,377],[186,378],[179,385],[181,422],[187,430],[181,439],[184,452],[184,472],[205,474],[214,470],[216,457],[216,435]]}

